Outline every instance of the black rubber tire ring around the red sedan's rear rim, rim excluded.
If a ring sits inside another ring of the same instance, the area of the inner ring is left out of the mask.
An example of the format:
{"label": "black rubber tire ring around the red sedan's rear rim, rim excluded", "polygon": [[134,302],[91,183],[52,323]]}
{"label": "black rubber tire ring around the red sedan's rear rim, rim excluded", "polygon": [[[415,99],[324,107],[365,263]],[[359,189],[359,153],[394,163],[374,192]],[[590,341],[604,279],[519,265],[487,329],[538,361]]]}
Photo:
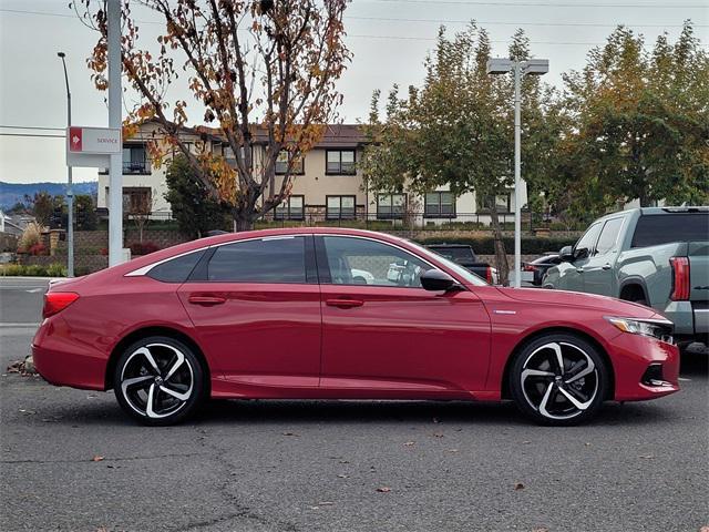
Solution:
{"label": "black rubber tire ring around the red sedan's rear rim, rim excluded", "polygon": [[[131,407],[131,405],[127,402],[127,399],[123,396],[123,391],[121,390],[121,374],[123,372],[125,362],[136,349],[144,347],[148,344],[165,344],[174,347],[175,349],[178,349],[185,356],[185,359],[187,360],[187,362],[192,366],[192,372],[193,372],[193,379],[194,379],[192,396],[189,397],[189,399],[187,400],[184,407],[182,407],[175,413],[167,416],[165,418],[148,418],[147,416],[143,416],[136,412],[133,409],[133,407]],[[199,406],[203,402],[203,396],[205,390],[205,371],[203,368],[203,362],[199,359],[199,357],[197,357],[193,351],[193,349],[191,349],[188,346],[186,346],[182,341],[176,340],[174,338],[166,337],[166,336],[150,336],[150,337],[141,338],[140,340],[131,344],[129,347],[126,347],[123,350],[123,352],[119,357],[119,360],[115,365],[115,369],[113,374],[113,382],[115,383],[113,391],[115,393],[116,400],[119,401],[119,405],[133,419],[136,419],[141,423],[147,424],[147,426],[156,426],[156,427],[168,426],[168,424],[175,424],[175,423],[178,423],[179,421],[185,420],[189,416],[194,415],[195,411],[199,408]]]}

